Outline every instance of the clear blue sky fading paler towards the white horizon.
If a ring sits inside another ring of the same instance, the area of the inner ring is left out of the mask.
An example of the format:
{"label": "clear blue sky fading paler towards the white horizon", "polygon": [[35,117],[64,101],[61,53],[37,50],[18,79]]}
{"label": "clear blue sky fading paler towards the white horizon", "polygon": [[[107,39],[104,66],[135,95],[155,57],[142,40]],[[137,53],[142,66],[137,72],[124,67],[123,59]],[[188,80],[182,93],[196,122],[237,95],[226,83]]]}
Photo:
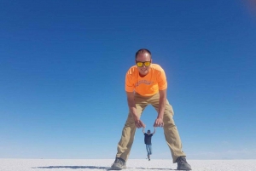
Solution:
{"label": "clear blue sky fading paler towards the white horizon", "polygon": [[[0,3],[0,157],[114,158],[139,48],[168,80],[188,159],[255,159],[252,1]],[[142,120],[152,129],[152,106]],[[171,159],[162,128],[152,158]],[[145,158],[137,129],[130,158]]]}

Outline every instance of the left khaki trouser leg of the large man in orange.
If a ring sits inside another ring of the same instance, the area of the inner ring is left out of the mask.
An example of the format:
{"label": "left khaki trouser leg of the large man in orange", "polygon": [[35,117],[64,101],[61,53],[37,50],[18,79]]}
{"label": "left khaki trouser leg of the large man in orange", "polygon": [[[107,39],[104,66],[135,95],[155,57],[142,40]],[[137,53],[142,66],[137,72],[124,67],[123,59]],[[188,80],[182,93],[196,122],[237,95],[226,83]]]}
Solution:
{"label": "left khaki trouser leg of the large man in orange", "polygon": [[[147,106],[147,103],[143,101],[141,101],[140,103],[136,103],[138,117],[141,117],[141,114],[146,106]],[[132,117],[131,112],[129,112],[128,118],[125,123],[125,127],[123,128],[123,131],[122,131],[121,139],[119,140],[119,144],[117,148],[118,152],[116,154],[116,157],[120,157],[125,161],[128,160],[128,157],[131,151],[131,146],[134,140],[135,132],[136,132],[136,126],[134,123],[134,119]]]}

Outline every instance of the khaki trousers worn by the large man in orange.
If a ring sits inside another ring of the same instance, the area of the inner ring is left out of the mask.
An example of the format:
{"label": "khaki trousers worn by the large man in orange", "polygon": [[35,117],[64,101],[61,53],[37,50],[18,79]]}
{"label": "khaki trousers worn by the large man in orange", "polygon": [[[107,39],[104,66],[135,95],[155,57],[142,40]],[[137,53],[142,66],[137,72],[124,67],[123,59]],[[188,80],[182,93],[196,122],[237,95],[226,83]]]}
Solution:
{"label": "khaki trousers worn by the large man in orange", "polygon": [[[147,105],[153,105],[156,111],[159,110],[159,94],[154,94],[153,96],[145,97],[140,94],[135,94],[135,103],[137,108],[137,115],[141,117],[145,107]],[[164,134],[166,137],[166,143],[170,148],[172,153],[172,160],[176,162],[177,157],[185,157],[185,153],[182,151],[182,142],[180,140],[179,134],[177,132],[176,125],[172,119],[174,113],[172,110],[172,105],[169,104],[168,100],[166,100],[166,110],[164,112],[163,122],[164,122]],[[125,127],[122,131],[121,139],[118,144],[118,152],[116,157],[120,157],[125,161],[128,160],[131,151],[131,145],[134,140],[134,135],[136,132],[136,126],[134,123],[134,119],[129,112],[127,117]]]}

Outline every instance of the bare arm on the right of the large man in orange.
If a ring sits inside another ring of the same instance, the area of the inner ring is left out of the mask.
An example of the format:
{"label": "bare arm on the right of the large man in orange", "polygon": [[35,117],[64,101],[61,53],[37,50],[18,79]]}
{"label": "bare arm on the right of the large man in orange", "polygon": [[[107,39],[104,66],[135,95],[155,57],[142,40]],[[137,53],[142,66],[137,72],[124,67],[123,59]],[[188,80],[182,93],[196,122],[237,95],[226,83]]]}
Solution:
{"label": "bare arm on the right of the large man in orange", "polygon": [[164,117],[164,112],[166,109],[166,89],[164,90],[159,90],[160,94],[160,99],[159,99],[159,111],[158,111],[158,116],[154,122],[154,127],[163,127],[163,117]]}

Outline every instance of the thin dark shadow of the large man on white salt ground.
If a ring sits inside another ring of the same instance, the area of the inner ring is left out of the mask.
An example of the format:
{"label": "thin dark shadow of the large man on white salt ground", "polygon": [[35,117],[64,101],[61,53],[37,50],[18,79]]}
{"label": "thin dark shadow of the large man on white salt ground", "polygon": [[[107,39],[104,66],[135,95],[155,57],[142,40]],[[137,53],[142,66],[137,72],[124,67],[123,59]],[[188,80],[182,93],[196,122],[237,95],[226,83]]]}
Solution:
{"label": "thin dark shadow of the large man on white salt ground", "polygon": [[[99,166],[48,166],[48,167],[36,167],[36,168],[94,168],[94,169],[106,169],[111,170],[110,167]],[[157,169],[157,170],[172,170],[170,168],[137,168],[137,169]],[[176,169],[173,169],[176,170]]]}

